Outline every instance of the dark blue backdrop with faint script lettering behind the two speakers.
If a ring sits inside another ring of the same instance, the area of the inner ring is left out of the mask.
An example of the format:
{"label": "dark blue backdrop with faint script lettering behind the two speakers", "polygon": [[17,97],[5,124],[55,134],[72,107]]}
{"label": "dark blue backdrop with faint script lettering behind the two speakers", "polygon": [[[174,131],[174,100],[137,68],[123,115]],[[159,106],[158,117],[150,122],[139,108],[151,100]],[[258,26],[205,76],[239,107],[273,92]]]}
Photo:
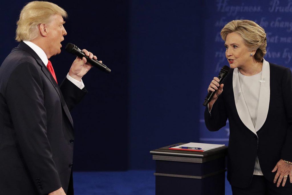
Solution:
{"label": "dark blue backdrop with faint script lettering behind the two speakers", "polygon": [[[25,2],[0,7],[0,61],[17,46],[15,23]],[[220,30],[234,19],[267,32],[265,59],[291,67],[291,0],[52,1],[69,14],[72,42],[92,51],[112,73],[91,70],[89,93],[72,115],[74,170],[154,169],[149,151],[177,142],[228,144],[228,125],[209,132],[203,100],[227,65]],[[51,58],[58,80],[74,56]]]}

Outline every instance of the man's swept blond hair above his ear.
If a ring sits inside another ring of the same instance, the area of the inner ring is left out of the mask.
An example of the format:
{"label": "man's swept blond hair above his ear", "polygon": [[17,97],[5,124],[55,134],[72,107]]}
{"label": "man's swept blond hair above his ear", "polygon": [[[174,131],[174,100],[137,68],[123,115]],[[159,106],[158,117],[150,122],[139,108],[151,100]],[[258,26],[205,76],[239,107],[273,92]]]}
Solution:
{"label": "man's swept blond hair above his ear", "polygon": [[15,40],[30,41],[38,36],[38,25],[50,22],[50,17],[55,14],[67,18],[67,12],[56,4],[47,1],[32,1],[26,4],[17,21]]}

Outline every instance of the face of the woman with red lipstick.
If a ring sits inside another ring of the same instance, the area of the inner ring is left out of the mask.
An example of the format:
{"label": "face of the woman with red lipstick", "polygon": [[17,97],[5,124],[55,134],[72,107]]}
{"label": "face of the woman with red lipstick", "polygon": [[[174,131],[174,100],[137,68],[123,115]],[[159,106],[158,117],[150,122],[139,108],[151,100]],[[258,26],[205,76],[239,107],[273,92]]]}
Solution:
{"label": "face of the woman with red lipstick", "polygon": [[230,68],[245,68],[251,65],[253,57],[251,51],[244,44],[244,40],[237,32],[227,34],[225,41],[226,58],[229,62]]}

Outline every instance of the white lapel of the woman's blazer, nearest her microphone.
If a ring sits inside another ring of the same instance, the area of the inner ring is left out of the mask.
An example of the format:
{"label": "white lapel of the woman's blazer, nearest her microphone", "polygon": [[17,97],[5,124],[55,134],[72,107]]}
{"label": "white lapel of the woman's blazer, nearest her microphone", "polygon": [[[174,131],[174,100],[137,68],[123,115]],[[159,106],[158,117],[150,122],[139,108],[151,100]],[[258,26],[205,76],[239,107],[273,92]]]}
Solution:
{"label": "white lapel of the woman's blazer, nearest her microphone", "polygon": [[233,86],[233,94],[234,94],[234,101],[235,106],[237,109],[237,113],[239,115],[240,120],[243,124],[251,130],[254,134],[256,134],[256,129],[253,126],[253,122],[251,120],[251,116],[249,114],[248,108],[246,106],[240,83],[239,83],[239,75],[238,75],[238,68],[234,68],[233,77],[232,77],[232,86]]}

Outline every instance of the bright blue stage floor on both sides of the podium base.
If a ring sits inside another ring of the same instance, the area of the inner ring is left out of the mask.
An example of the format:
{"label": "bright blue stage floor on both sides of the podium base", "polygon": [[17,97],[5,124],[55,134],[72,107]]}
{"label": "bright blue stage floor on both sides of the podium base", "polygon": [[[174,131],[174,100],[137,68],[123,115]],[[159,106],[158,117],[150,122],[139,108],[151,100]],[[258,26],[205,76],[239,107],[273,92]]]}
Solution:
{"label": "bright blue stage floor on both sides of the podium base", "polygon": [[[154,170],[74,172],[75,195],[154,195]],[[225,179],[225,195],[231,195]]]}

